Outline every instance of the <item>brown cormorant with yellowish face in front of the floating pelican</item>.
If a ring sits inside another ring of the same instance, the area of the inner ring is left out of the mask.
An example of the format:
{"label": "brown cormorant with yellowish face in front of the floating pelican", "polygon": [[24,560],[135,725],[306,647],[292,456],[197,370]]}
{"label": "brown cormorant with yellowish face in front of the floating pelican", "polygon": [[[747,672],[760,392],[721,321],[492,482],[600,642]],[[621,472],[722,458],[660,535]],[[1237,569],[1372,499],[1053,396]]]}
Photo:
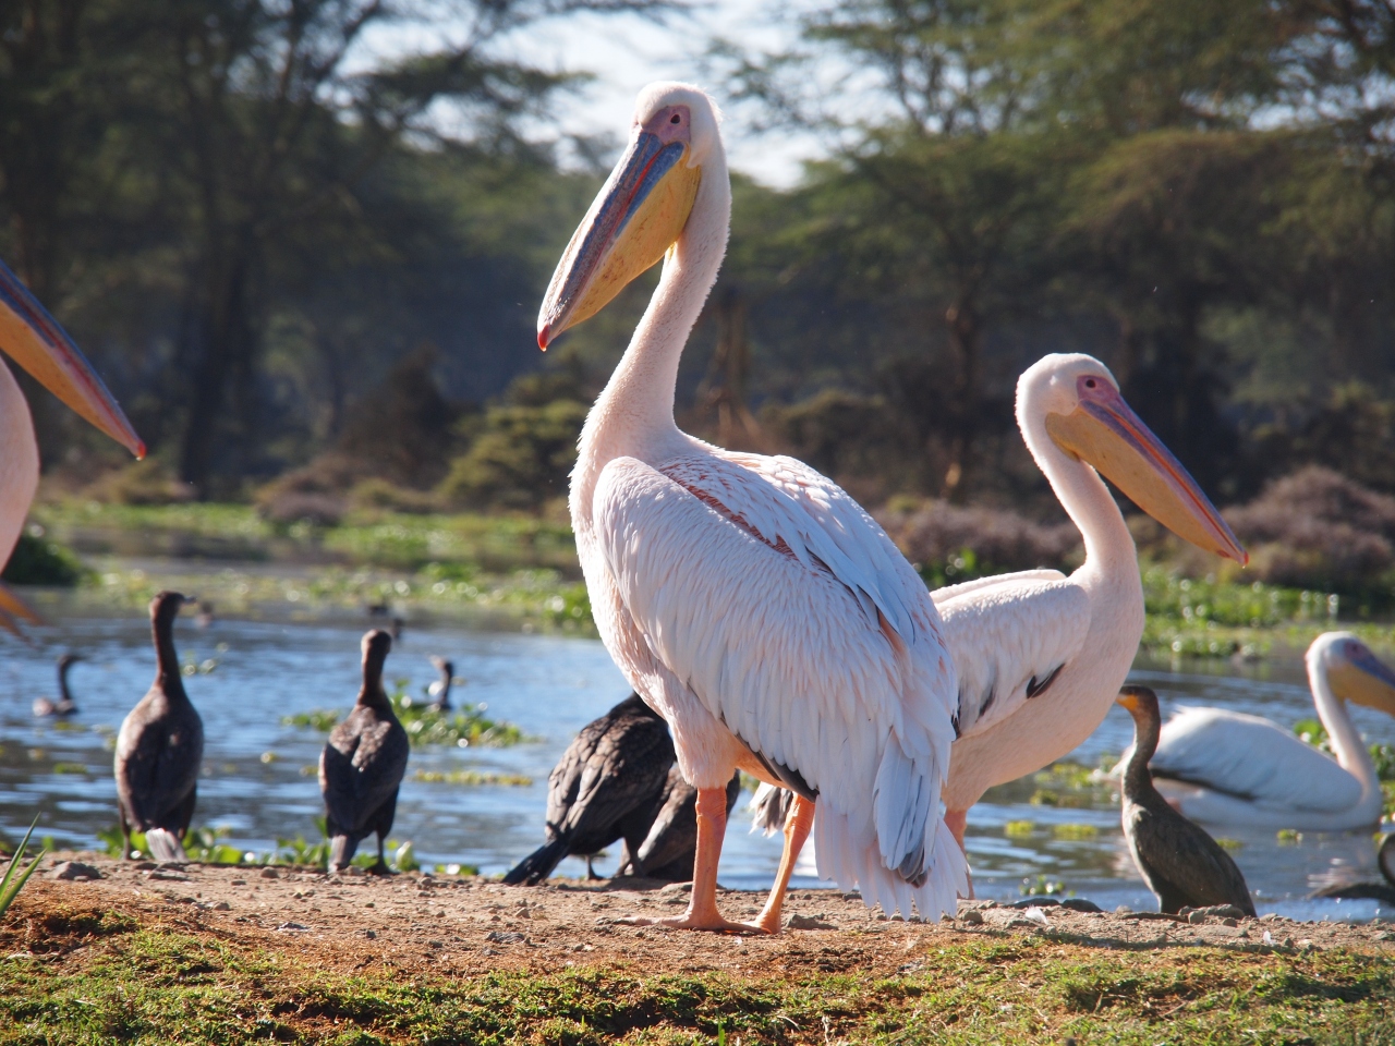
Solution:
{"label": "brown cormorant with yellowish face in front of the floating pelican", "polygon": [[1162,728],[1158,695],[1124,686],[1117,700],[1134,720],[1134,750],[1123,777],[1124,840],[1161,911],[1175,915],[1184,907],[1233,904],[1254,915],[1250,888],[1230,855],[1154,788],[1148,760]]}

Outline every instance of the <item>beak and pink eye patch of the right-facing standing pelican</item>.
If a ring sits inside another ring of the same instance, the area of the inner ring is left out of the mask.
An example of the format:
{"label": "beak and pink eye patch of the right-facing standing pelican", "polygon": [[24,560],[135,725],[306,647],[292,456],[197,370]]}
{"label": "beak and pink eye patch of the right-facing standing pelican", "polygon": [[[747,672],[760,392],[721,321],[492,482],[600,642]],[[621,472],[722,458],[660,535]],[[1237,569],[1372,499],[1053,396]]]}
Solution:
{"label": "beak and pink eye patch of the right-facing standing pelican", "polygon": [[1244,566],[1240,547],[1215,505],[1110,382],[1083,375],[1080,406],[1048,414],[1046,432],[1069,455],[1092,464],[1144,512],[1180,538]]}

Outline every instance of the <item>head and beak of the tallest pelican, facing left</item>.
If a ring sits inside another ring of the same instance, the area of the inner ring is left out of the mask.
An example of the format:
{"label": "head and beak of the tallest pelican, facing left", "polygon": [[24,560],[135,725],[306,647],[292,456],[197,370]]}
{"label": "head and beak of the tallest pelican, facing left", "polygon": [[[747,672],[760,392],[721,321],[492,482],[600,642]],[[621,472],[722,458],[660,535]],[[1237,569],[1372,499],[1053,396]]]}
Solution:
{"label": "head and beak of the tallest pelican, facing left", "polygon": [[547,287],[537,317],[540,349],[600,312],[682,236],[703,162],[720,145],[717,106],[695,86],[650,84],[639,92],[629,145]]}

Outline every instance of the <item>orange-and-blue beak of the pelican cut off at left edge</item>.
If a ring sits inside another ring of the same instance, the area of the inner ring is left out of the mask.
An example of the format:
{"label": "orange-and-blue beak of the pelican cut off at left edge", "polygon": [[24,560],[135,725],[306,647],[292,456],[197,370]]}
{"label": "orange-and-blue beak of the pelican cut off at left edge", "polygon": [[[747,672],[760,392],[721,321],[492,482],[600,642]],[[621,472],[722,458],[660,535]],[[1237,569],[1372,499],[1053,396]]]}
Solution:
{"label": "orange-and-blue beak of the pelican cut off at left edge", "polygon": [[49,392],[137,457],[145,444],[67,332],[0,262],[0,349]]}

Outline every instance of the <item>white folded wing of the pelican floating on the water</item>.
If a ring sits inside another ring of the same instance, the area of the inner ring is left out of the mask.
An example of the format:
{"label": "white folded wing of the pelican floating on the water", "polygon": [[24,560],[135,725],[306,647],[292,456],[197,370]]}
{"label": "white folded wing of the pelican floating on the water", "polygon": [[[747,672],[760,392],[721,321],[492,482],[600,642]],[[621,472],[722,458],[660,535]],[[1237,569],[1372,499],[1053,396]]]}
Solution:
{"label": "white folded wing of the pelican floating on the water", "polygon": [[1362,782],[1336,760],[1268,720],[1221,708],[1173,715],[1148,767],[1261,806],[1335,813],[1362,798]]}

